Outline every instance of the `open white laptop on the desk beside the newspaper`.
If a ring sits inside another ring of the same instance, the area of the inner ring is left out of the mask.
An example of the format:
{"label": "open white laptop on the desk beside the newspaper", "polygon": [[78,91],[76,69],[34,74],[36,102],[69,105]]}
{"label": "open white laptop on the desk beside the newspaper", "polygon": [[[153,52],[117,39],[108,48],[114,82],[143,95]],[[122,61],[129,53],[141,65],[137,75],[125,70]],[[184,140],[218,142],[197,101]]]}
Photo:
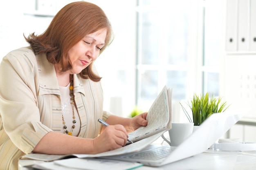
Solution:
{"label": "open white laptop on the desk beside the newspaper", "polygon": [[209,149],[209,147],[218,141],[231,126],[236,124],[247,111],[249,111],[249,109],[212,114],[192,133],[192,135],[177,147],[150,144],[139,152],[102,158],[138,162],[145,166],[153,167],[179,161]]}

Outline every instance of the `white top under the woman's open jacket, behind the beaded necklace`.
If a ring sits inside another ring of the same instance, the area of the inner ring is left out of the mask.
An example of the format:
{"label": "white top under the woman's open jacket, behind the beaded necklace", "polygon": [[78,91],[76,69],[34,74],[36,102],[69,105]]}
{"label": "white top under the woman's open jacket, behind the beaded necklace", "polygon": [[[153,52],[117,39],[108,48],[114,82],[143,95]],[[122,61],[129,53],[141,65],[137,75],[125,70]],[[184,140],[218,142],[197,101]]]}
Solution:
{"label": "white top under the woman's open jacket, behind the beaded necklace", "polygon": [[[66,87],[63,86],[59,86],[60,88],[60,92],[61,92],[61,108],[62,108],[62,114],[64,117],[64,121],[65,121],[65,125],[67,126],[67,130],[69,132],[71,132],[72,130],[72,126],[73,126],[73,110],[72,110],[72,105],[71,105],[71,101],[70,101],[70,84],[68,84]],[[77,113],[76,107],[74,105],[74,114],[75,114],[75,120],[76,123],[74,124],[76,126],[76,128],[74,128],[72,135],[73,136],[77,136],[79,134],[79,130],[80,130],[80,126],[81,126],[81,122],[80,122],[80,118],[79,115]],[[64,126],[64,124],[63,124]],[[61,130],[61,133],[65,133],[65,129],[63,128]]]}

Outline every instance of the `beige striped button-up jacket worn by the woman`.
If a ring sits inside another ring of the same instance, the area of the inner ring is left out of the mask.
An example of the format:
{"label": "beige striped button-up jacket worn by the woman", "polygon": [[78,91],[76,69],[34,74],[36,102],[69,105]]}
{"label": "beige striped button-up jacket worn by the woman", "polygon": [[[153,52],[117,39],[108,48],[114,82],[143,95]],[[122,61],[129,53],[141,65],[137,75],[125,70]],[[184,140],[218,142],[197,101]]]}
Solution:
{"label": "beige striped button-up jacket worn by the woman", "polygon": [[[97,119],[110,115],[103,111],[101,83],[74,75],[74,95],[81,120],[78,136],[97,137],[101,130]],[[30,47],[11,51],[0,64],[0,170],[18,169],[20,156],[31,153],[45,134],[62,127],[53,64]]]}

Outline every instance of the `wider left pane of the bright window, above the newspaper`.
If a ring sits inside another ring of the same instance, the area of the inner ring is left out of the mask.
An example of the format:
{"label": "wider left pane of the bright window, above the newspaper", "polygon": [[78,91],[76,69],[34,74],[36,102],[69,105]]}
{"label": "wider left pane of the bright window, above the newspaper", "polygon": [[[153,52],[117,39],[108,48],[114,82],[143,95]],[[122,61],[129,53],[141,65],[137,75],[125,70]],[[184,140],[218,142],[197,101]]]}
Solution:
{"label": "wider left pane of the bright window, above the newspaper", "polygon": [[137,104],[150,107],[166,84],[186,98],[190,0],[138,1]]}

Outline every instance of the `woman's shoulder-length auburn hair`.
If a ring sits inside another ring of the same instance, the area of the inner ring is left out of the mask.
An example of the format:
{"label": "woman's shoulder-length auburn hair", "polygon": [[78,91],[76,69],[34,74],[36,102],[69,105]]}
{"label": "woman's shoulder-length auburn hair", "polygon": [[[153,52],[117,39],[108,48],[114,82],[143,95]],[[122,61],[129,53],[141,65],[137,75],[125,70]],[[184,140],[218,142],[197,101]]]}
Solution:
{"label": "woman's shoulder-length auburn hair", "polygon": [[[68,51],[82,40],[85,35],[106,29],[105,46],[100,54],[112,42],[112,27],[104,11],[90,2],[72,2],[63,7],[54,16],[46,31],[40,35],[31,33],[26,41],[38,54],[45,53],[52,64],[61,64],[61,71],[72,69]],[[99,82],[101,77],[92,71],[91,63],[81,71],[80,76]]]}

